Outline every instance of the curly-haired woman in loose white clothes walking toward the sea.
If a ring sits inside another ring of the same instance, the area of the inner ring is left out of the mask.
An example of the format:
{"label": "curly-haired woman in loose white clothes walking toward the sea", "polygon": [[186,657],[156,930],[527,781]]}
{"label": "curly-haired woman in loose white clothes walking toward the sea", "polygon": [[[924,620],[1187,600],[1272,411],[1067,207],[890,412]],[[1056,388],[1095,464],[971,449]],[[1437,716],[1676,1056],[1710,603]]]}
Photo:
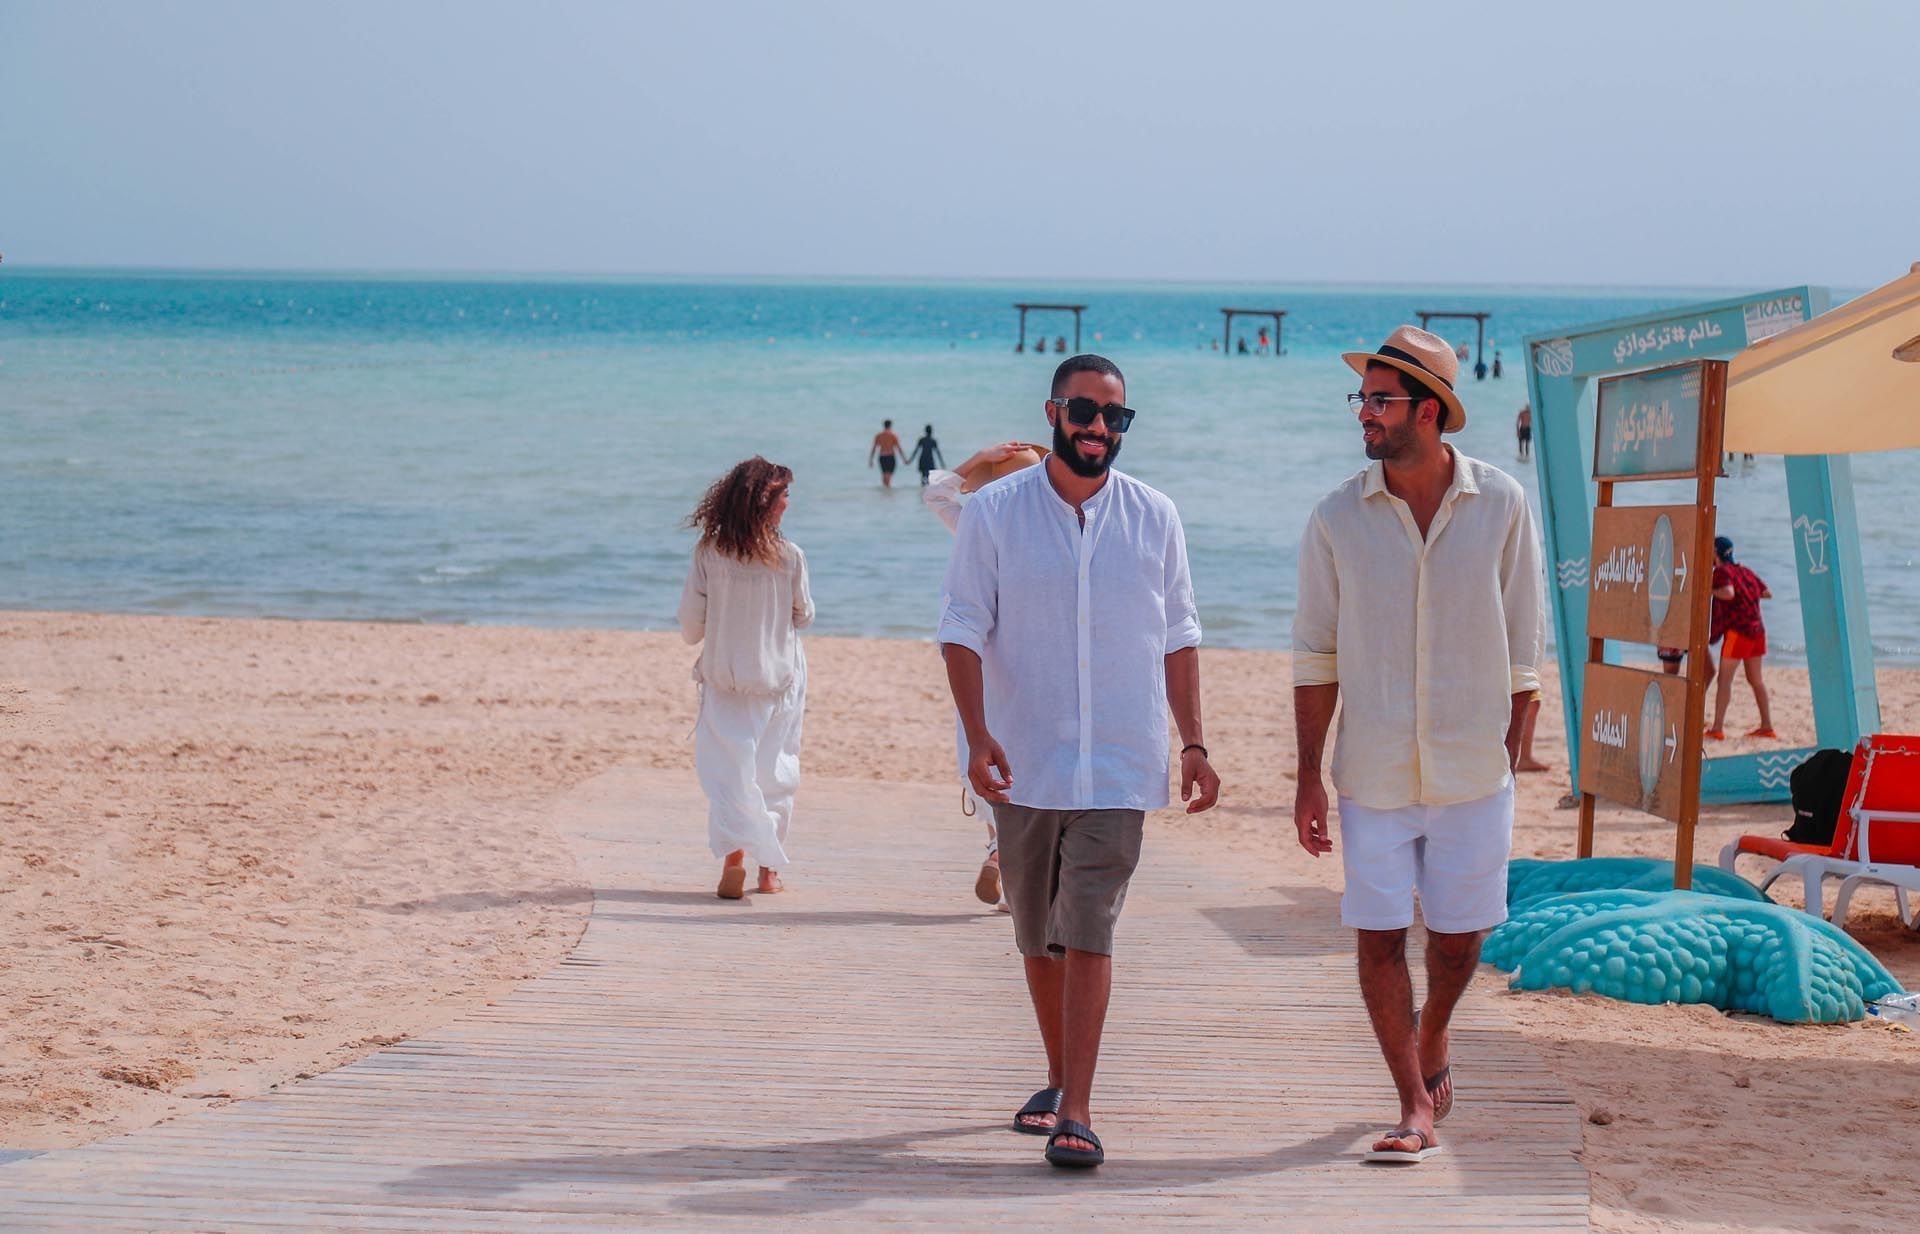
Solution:
{"label": "curly-haired woman in loose white clothes walking toward the sea", "polygon": [[801,787],[806,654],[814,620],[806,555],[780,534],[793,472],[755,455],[722,476],[687,518],[701,534],[680,595],[680,633],[701,643],[693,766],[707,791],[707,839],[722,858],[718,894],[781,890],[787,825]]}

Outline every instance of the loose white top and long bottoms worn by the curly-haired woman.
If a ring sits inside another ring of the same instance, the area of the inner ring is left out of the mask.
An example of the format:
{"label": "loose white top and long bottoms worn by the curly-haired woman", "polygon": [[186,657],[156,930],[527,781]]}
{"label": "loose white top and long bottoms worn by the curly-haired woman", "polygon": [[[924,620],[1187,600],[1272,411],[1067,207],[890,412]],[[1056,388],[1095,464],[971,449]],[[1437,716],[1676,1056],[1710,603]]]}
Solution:
{"label": "loose white top and long bottoms worn by the curly-haired woman", "polygon": [[693,551],[680,593],[680,633],[701,643],[693,679],[701,718],[693,766],[707,793],[707,841],[716,858],[743,848],[768,869],[787,867],[787,827],[801,787],[806,654],[799,631],[814,620],[806,555],[781,541],[781,564]]}

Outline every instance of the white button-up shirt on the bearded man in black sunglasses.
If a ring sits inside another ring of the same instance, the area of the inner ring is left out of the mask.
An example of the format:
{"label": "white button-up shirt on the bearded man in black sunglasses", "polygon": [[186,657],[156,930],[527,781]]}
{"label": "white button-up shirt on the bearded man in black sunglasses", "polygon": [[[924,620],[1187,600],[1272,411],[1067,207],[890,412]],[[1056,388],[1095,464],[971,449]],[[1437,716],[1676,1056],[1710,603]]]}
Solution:
{"label": "white button-up shirt on the bearded man in black sunglasses", "polygon": [[939,641],[979,654],[987,731],[1035,810],[1167,804],[1169,653],[1200,645],[1173,503],[1110,470],[1083,507],[1046,466],[981,487],[960,514]]}

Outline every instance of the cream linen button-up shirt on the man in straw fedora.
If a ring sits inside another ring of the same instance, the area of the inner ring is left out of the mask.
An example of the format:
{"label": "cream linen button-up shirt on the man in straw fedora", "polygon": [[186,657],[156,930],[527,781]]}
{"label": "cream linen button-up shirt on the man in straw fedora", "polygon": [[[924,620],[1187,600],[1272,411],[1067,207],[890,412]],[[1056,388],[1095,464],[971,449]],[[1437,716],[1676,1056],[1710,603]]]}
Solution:
{"label": "cream linen button-up shirt on the man in straw fedora", "polygon": [[1546,589],[1526,491],[1453,455],[1427,539],[1386,468],[1327,493],[1300,541],[1294,685],[1338,685],[1332,783],[1373,810],[1505,787],[1513,695],[1540,689]]}

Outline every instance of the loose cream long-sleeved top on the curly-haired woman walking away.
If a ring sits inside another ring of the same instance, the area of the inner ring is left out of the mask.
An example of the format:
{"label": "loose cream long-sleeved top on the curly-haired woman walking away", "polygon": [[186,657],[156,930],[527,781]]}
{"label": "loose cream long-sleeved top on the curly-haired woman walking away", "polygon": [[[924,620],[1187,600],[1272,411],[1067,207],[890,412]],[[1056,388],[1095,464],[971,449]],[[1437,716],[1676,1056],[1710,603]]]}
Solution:
{"label": "loose cream long-sleeved top on the curly-haired woman walking away", "polygon": [[801,629],[814,622],[806,555],[791,539],[781,564],[735,560],[708,545],[693,549],[680,593],[680,635],[707,641],[693,679],[730,695],[783,695],[803,664]]}

